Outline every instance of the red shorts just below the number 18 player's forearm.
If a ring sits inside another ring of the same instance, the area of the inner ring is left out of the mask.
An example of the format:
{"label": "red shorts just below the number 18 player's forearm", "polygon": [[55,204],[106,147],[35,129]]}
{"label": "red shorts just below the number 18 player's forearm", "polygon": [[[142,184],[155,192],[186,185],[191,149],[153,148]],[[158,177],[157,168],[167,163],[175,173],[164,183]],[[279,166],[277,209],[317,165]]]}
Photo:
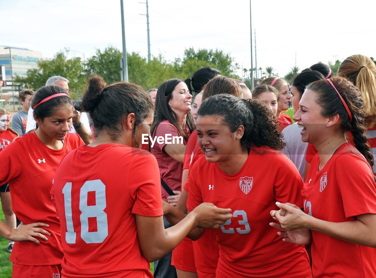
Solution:
{"label": "red shorts just below the number 18 player's forearm", "polygon": [[194,264],[192,240],[184,238],[182,242],[172,251],[171,265],[176,269],[197,272]]}

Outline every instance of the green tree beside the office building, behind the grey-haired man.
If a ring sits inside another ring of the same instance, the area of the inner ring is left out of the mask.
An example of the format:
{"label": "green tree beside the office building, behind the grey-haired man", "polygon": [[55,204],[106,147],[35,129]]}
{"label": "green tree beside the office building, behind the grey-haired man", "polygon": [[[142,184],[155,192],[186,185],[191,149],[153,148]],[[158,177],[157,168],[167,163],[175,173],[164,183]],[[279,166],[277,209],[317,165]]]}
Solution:
{"label": "green tree beside the office building, behind the grey-haired man", "polygon": [[[33,90],[45,86],[51,76],[60,75],[69,80],[69,90],[76,95],[85,87],[85,75],[81,58],[67,59],[67,49],[55,54],[52,60],[41,59],[37,69],[27,70],[26,77],[16,76],[15,82]],[[76,97],[73,94],[73,97]]]}

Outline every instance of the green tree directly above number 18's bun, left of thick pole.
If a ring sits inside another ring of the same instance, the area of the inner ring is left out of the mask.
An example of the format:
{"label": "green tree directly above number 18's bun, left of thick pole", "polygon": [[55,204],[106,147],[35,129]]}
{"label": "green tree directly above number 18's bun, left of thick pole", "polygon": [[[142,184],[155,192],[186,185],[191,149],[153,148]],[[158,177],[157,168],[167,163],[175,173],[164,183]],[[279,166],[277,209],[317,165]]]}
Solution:
{"label": "green tree directly above number 18's bun, left of thick pole", "polygon": [[108,46],[103,51],[97,49],[95,55],[90,57],[86,63],[86,72],[101,75],[109,84],[119,82],[121,80],[120,59],[122,57],[120,50],[113,46]]}

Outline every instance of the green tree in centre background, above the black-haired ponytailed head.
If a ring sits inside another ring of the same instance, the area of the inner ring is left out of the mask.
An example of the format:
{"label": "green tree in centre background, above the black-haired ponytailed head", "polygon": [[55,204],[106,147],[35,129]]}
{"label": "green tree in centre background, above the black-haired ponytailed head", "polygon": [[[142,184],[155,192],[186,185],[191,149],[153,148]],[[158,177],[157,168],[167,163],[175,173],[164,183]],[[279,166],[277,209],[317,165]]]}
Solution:
{"label": "green tree in centre background, above the black-haired ponytailed head", "polygon": [[206,66],[213,67],[220,70],[225,76],[238,78],[235,71],[239,69],[239,65],[234,63],[235,59],[229,53],[224,53],[218,49],[198,49],[193,47],[184,50],[183,59],[176,58],[174,61],[174,69],[176,73],[180,73],[185,78],[192,76],[192,74]]}

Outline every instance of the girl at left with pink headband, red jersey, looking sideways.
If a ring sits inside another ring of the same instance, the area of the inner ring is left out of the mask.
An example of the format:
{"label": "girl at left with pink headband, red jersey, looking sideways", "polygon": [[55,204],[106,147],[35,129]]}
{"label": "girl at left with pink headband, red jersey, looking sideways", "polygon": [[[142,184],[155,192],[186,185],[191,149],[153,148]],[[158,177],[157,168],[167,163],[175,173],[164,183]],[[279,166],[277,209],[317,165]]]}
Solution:
{"label": "girl at left with pink headband, red jersey, looking sideways", "polygon": [[[68,134],[73,101],[64,89],[41,87],[32,107],[38,127],[0,152],[0,183],[9,183],[12,208],[20,221],[49,225],[47,231],[38,231],[50,235],[39,246],[30,241],[14,244],[12,277],[50,278],[60,275],[63,253],[59,218],[49,192],[61,159],[83,142],[77,134]],[[41,237],[37,232],[33,236]]]}

